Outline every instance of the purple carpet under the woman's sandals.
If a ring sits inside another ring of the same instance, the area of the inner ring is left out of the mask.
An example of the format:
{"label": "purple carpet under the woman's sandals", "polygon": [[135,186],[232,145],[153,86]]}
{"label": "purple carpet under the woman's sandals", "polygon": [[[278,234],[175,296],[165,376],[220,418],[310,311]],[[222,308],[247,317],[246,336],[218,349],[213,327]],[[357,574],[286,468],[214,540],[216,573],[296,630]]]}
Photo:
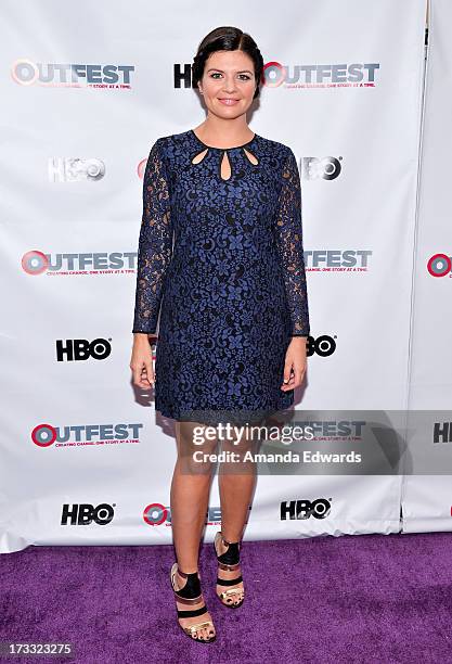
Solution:
{"label": "purple carpet under the woman's sandals", "polygon": [[[451,533],[243,542],[243,606],[215,597],[215,643],[176,622],[172,546],[28,547],[2,554],[0,640],[72,642],[75,662],[452,662]],[[2,662],[70,662],[61,657]]]}

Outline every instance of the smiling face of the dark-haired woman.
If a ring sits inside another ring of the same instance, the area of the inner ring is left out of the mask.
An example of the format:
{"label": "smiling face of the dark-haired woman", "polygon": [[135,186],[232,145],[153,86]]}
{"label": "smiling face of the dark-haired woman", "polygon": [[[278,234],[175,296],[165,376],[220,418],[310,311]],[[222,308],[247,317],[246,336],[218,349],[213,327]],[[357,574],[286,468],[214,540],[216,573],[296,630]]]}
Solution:
{"label": "smiling face of the dark-haired woman", "polygon": [[198,84],[208,111],[223,118],[246,113],[256,86],[253,60],[244,51],[211,53]]}

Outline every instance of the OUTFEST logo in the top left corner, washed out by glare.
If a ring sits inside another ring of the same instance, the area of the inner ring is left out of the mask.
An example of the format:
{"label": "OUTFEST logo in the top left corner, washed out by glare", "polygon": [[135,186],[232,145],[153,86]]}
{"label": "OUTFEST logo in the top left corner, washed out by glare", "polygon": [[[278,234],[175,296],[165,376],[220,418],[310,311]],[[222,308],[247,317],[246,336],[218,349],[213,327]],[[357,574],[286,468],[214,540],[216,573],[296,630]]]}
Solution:
{"label": "OUTFEST logo in the top left corner, washed out by glare", "polygon": [[133,65],[70,64],[34,62],[27,58],[15,60],[11,77],[20,86],[51,88],[130,89]]}

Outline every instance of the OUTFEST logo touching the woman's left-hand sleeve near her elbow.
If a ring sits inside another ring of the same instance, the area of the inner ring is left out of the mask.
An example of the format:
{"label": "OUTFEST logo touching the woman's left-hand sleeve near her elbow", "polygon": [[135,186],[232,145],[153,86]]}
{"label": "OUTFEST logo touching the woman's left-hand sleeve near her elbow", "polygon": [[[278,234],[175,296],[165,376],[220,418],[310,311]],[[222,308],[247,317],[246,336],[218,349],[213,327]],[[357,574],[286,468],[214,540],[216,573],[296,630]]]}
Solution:
{"label": "OUTFEST logo touching the woman's left-hand sleeve near her elbow", "polygon": [[26,252],[21,259],[27,274],[127,274],[134,273],[138,252],[87,252],[44,254],[38,250]]}

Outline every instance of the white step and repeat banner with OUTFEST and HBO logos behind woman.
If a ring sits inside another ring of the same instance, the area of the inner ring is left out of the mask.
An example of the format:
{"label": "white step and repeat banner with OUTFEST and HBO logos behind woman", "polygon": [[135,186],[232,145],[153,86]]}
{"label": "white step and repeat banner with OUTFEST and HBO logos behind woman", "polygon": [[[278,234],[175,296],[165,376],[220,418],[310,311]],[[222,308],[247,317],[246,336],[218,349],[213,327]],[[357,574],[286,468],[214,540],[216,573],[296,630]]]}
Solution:
{"label": "white step and repeat banner with OUTFEST and HBO logos behind woman", "polygon": [[[142,178],[157,138],[205,118],[191,64],[221,25],[248,31],[266,62],[250,128],[299,165],[311,337],[296,410],[319,413],[319,439],[358,445],[351,411],[365,425],[372,410],[444,406],[451,250],[432,158],[441,140],[445,159],[452,54],[436,27],[417,214],[426,5],[3,2],[0,551],[172,540],[175,422],[129,369]],[[388,534],[402,516],[450,528],[437,480],[269,469],[245,539]],[[206,540],[220,522],[215,477]]]}

